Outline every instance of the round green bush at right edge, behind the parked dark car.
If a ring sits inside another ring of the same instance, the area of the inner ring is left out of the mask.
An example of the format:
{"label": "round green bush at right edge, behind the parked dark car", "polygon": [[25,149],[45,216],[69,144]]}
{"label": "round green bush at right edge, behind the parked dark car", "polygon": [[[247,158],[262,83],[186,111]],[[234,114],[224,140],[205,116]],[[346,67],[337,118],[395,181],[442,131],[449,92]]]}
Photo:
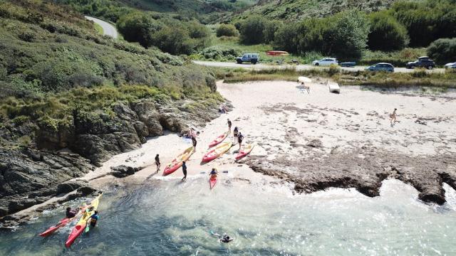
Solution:
{"label": "round green bush at right edge, behind the parked dark car", "polygon": [[432,42],[427,48],[427,54],[440,65],[455,62],[456,38],[442,38]]}

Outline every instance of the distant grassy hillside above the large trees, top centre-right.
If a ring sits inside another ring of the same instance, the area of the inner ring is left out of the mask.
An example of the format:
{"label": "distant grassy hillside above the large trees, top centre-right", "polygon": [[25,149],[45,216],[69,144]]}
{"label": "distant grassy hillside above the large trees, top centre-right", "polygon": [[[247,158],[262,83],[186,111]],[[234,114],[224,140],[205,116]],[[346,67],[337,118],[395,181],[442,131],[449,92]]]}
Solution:
{"label": "distant grassy hillside above the large trees, top centre-right", "polygon": [[395,1],[398,0],[264,0],[241,14],[227,16],[223,20],[238,20],[252,15],[261,15],[266,18],[296,21],[303,18],[331,16],[347,9],[379,11],[387,9]]}

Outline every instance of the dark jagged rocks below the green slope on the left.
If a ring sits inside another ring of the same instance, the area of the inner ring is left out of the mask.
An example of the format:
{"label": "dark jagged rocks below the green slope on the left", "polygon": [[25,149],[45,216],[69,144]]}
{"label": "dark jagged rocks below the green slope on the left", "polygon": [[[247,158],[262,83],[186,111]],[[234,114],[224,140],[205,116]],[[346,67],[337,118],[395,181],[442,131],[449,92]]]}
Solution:
{"label": "dark jagged rocks below the green slope on the left", "polygon": [[[112,115],[100,113],[97,118],[81,119],[74,113],[73,125],[57,131],[30,121],[0,127],[1,139],[6,142],[24,135],[32,140],[28,147],[0,149],[0,222],[4,226],[21,223],[24,216],[8,215],[70,190],[78,193],[58,203],[87,196],[93,189],[86,182],[69,186],[66,181],[88,174],[115,154],[140,148],[147,137],[164,131],[187,132],[189,127],[203,127],[219,116],[216,105],[190,112],[182,107],[189,102],[192,100],[118,104]],[[113,176],[130,175],[132,170],[124,167],[113,170]],[[138,169],[133,174],[135,171]]]}

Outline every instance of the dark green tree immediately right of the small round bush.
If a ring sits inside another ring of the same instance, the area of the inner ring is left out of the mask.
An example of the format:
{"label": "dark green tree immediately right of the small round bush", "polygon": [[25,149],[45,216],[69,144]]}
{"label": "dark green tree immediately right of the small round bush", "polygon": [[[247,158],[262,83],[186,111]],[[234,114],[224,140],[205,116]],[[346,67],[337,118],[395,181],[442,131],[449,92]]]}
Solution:
{"label": "dark green tree immediately right of the small round bush", "polygon": [[242,21],[239,29],[241,42],[245,44],[263,43],[265,25],[266,19],[261,16],[250,16]]}

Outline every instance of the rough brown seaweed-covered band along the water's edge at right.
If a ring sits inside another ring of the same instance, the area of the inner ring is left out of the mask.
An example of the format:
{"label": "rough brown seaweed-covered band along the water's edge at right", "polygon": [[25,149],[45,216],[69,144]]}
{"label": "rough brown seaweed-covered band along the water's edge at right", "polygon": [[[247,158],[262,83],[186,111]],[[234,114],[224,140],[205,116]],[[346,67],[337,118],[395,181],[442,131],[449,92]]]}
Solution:
{"label": "rough brown seaweed-covered band along the water's edge at right", "polygon": [[[360,157],[362,156],[362,157]],[[456,156],[406,156],[378,149],[361,148],[335,154],[312,154],[303,159],[261,156],[244,160],[254,171],[295,184],[295,191],[311,193],[329,187],[356,188],[366,196],[379,196],[385,178],[398,178],[415,187],[418,198],[428,203],[445,203],[442,183],[456,189]]]}

